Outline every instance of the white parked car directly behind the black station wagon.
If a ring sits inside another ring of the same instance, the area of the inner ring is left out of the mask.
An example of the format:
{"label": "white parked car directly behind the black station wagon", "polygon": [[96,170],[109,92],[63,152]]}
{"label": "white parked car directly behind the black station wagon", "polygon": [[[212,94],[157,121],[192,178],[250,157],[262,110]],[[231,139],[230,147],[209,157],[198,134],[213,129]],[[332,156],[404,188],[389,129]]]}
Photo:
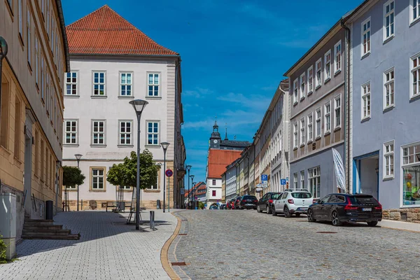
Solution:
{"label": "white parked car directly behind the black station wagon", "polygon": [[314,197],[307,190],[284,190],[283,195],[273,202],[272,215],[284,214],[289,218],[295,214],[299,217],[300,214],[307,214],[309,205],[313,203]]}

